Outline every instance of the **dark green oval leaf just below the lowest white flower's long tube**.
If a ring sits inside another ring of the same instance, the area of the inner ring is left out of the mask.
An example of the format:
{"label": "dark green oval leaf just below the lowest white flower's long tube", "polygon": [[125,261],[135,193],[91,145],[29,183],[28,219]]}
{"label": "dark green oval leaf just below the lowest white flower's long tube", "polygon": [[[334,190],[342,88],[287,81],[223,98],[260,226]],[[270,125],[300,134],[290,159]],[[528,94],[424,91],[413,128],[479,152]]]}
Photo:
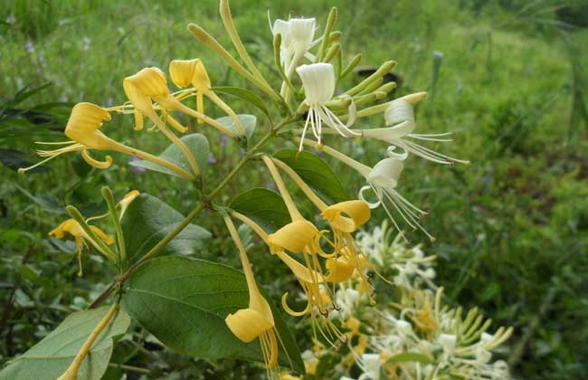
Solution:
{"label": "dark green oval leaf just below the lowest white flower's long tube", "polygon": [[349,195],[330,166],[320,157],[307,150],[299,152],[283,149],[273,157],[290,166],[327,203],[349,200]]}

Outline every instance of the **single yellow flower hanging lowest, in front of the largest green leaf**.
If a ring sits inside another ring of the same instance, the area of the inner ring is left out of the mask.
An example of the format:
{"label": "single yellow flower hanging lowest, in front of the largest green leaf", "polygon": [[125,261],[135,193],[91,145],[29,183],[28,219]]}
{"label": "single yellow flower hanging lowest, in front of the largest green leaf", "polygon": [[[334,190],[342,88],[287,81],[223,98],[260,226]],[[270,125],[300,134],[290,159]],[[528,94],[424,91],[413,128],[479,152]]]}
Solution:
{"label": "single yellow flower hanging lowest, in front of the largest green leaf", "polygon": [[247,257],[247,252],[242,244],[239,233],[235,229],[231,218],[224,215],[224,222],[227,225],[232,241],[235,243],[239,251],[239,257],[243,271],[245,272],[245,280],[247,280],[247,288],[249,290],[249,307],[247,309],[239,309],[233,314],[229,314],[224,322],[227,327],[231,329],[235,337],[238,337],[243,342],[249,343],[259,337],[261,342],[261,351],[265,360],[265,366],[270,371],[269,377],[272,378],[278,375],[275,371],[278,368],[278,341],[280,335],[275,328],[273,314],[271,312],[270,304],[261,295],[257,287],[253,271],[251,270],[251,263]]}

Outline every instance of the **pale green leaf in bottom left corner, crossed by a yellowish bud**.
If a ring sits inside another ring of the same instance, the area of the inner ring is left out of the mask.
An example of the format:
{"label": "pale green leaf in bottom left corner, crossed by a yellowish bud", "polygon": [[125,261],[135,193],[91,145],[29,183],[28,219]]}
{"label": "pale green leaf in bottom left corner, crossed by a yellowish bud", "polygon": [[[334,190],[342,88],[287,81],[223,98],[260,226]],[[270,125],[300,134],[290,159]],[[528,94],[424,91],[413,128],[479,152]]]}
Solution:
{"label": "pale green leaf in bottom left corner, crossed by a yellowish bud", "polygon": [[[59,377],[108,310],[109,307],[101,307],[71,314],[41,342],[9,362],[0,372],[0,380],[54,380]],[[78,380],[102,377],[109,365],[113,339],[124,334],[129,324],[128,314],[119,309],[116,318],[92,345],[90,355],[81,365]]]}

